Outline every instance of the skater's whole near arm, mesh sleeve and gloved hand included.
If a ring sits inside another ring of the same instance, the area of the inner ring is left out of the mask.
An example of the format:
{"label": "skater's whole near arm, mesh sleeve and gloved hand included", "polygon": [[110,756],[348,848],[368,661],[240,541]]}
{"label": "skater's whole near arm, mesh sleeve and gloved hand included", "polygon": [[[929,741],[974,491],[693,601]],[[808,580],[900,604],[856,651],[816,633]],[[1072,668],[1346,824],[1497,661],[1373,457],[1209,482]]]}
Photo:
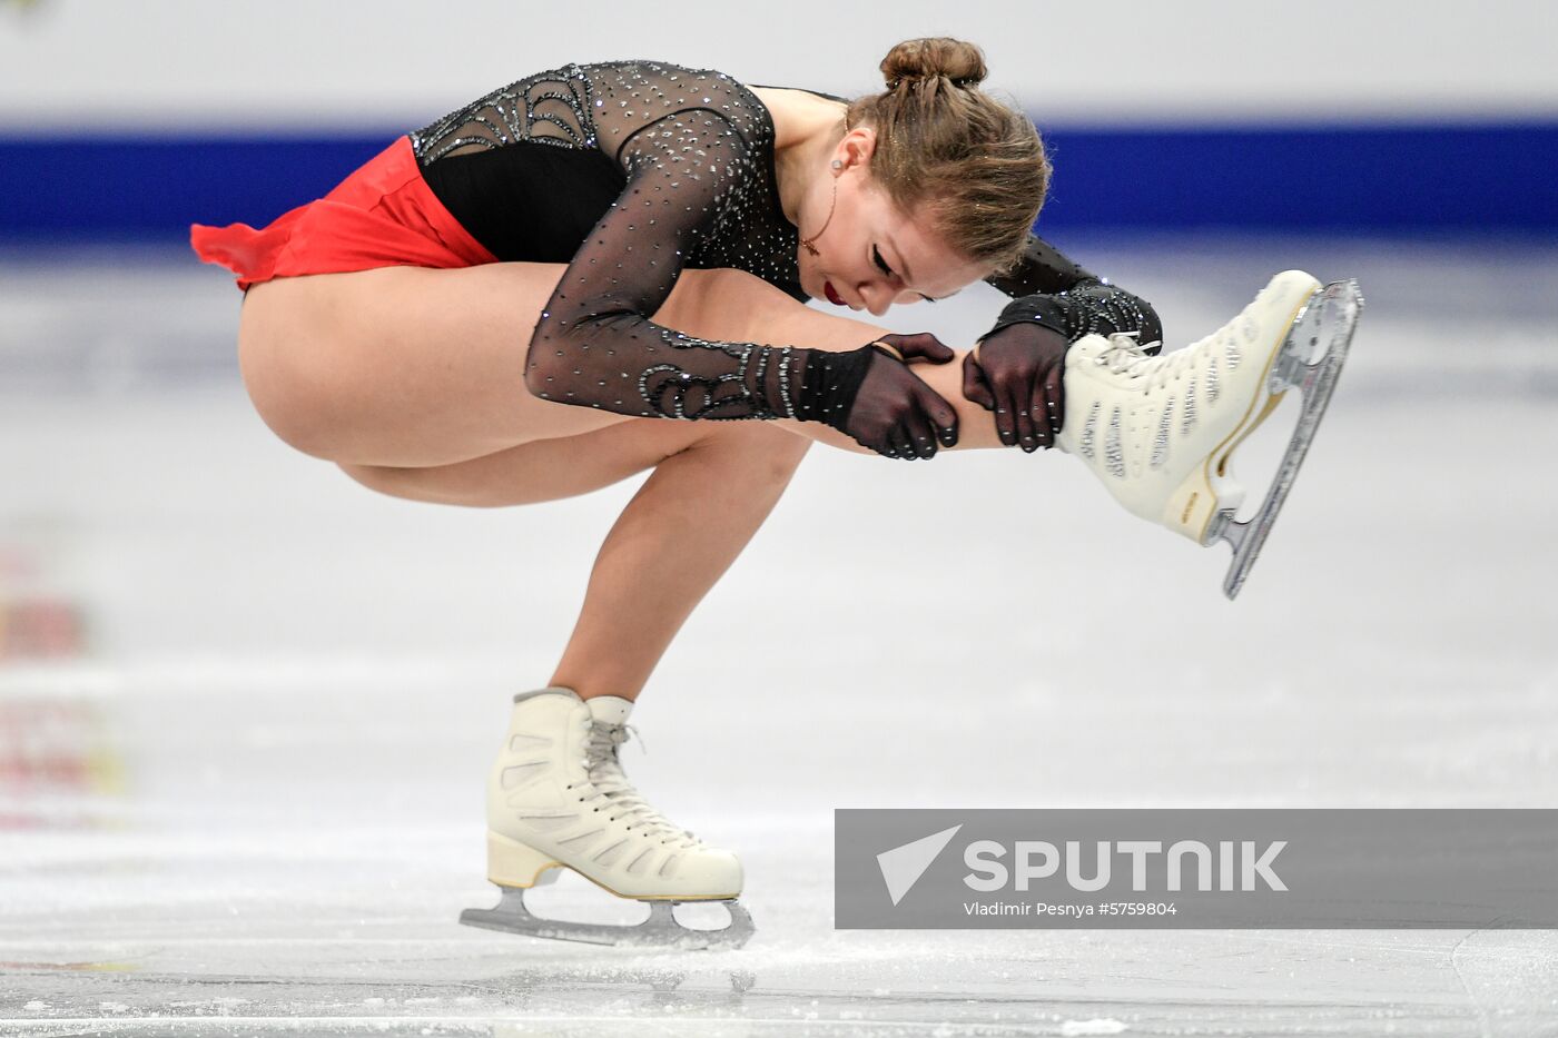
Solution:
{"label": "skater's whole near arm, mesh sleeve and gloved hand included", "polygon": [[[720,341],[651,321],[715,229],[743,218],[753,148],[721,115],[689,109],[637,128],[619,159],[628,182],[531,335],[531,393],[634,418],[816,421],[887,455],[955,441],[952,405],[869,341],[852,351]],[[916,351],[952,358],[939,343],[899,352]]]}

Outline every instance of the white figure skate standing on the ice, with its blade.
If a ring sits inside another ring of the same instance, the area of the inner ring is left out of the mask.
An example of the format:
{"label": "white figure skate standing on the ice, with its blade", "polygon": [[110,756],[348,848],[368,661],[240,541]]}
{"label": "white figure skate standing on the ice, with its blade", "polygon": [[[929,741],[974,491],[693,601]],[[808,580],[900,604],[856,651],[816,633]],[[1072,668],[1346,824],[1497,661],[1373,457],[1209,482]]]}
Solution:
{"label": "white figure skate standing on the ice, with its blade", "polygon": [[[488,776],[488,877],[503,891],[495,909],[460,921],[491,930],[654,948],[740,948],[753,920],[735,902],[742,863],[704,845],[643,801],[617,757],[633,703],[615,695],[580,700],[548,687],[514,697],[508,740]],[[531,915],[525,890],[572,868],[619,898],[650,904],[636,926],[569,923]],[[724,929],[682,926],[673,906],[723,901]]]}

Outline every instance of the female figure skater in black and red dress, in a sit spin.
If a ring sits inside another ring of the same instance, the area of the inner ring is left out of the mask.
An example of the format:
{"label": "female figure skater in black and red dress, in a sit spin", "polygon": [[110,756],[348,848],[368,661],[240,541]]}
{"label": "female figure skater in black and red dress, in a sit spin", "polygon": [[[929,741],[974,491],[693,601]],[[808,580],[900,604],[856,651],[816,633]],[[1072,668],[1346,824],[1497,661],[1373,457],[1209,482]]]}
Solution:
{"label": "female figure skater in black and red dress, in a sit spin", "polygon": [[[499,507],[653,469],[548,687],[514,700],[488,789],[505,902],[466,921],[657,941],[671,902],[723,899],[732,927],[690,940],[749,934],[735,856],[647,804],[617,745],[812,441],[905,460],[1058,444],[1197,539],[1226,499],[1207,458],[1264,418],[1260,371],[1317,282],[1279,276],[1212,338],[1148,357],[1151,307],[1033,237],[1049,164],[1031,123],[978,90],[980,51],[910,41],[882,72],[885,92],[844,101],[566,65],[396,140],[265,229],[193,229],[245,288],[260,416],[366,486]],[[882,315],[980,279],[1014,299],[968,352],[801,302]],[[558,867],[651,901],[651,926],[528,916],[520,891]]]}

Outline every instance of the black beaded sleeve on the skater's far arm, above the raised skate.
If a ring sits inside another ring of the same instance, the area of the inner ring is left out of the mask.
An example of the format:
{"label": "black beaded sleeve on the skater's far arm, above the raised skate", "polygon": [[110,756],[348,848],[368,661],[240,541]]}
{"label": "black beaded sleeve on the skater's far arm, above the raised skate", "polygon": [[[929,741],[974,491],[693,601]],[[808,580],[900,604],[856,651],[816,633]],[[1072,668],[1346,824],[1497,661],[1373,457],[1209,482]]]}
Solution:
{"label": "black beaded sleeve on the skater's far arm, above the raised skate", "polygon": [[1156,344],[1147,352],[1156,352],[1162,344],[1162,321],[1150,302],[1084,270],[1036,234],[1028,235],[1016,270],[986,281],[1016,296],[986,337],[1010,324],[1031,321],[1070,341],[1092,334],[1139,332],[1144,346]]}

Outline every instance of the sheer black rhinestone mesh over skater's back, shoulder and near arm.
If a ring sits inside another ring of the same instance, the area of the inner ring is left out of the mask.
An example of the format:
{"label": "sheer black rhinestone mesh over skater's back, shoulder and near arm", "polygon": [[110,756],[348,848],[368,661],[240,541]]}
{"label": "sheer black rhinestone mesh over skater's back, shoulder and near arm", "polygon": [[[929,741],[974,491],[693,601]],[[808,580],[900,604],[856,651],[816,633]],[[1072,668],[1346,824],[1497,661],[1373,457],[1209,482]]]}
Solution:
{"label": "sheer black rhinestone mesh over skater's back, shoulder and near arm", "polygon": [[795,418],[804,351],[695,338],[647,316],[689,267],[798,281],[757,97],[720,72],[570,65],[495,90],[413,134],[413,147],[427,165],[538,136],[600,148],[626,185],[542,310],[530,390],[642,418]]}

